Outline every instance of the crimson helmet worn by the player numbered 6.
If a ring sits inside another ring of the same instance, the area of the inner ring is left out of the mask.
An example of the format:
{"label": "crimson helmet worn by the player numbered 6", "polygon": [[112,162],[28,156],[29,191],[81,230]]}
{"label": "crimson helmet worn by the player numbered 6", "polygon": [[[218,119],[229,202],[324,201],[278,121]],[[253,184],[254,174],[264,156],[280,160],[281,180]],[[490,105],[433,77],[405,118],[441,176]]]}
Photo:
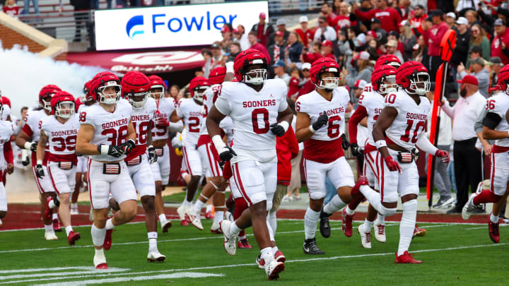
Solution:
{"label": "crimson helmet worn by the player numbered 6", "polygon": [[[322,78],[322,73],[334,73],[334,76]],[[333,90],[338,87],[341,79],[339,77],[339,64],[329,57],[317,59],[311,64],[310,78],[317,88]]]}

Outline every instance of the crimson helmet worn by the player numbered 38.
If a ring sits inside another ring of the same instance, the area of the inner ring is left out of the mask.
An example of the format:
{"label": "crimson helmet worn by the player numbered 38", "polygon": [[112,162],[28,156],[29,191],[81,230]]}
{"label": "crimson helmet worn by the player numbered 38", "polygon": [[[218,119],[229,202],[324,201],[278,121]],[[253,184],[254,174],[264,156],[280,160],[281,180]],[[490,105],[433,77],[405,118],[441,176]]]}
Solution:
{"label": "crimson helmet worn by the player numbered 38", "polygon": [[[110,87],[114,88],[115,97],[106,97],[107,94],[105,94],[104,91],[106,88]],[[103,71],[96,74],[90,85],[90,93],[92,93],[93,99],[105,105],[115,105],[120,99],[121,90],[122,87],[120,86],[119,78],[115,76],[115,74],[110,73],[110,71]]]}

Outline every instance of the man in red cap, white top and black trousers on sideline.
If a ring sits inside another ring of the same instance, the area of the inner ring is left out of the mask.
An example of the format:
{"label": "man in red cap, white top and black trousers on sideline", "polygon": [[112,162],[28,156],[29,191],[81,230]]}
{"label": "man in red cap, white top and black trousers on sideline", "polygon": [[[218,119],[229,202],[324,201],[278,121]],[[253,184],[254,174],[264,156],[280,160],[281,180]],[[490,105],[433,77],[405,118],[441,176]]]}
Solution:
{"label": "man in red cap, white top and black trousers on sideline", "polygon": [[[474,123],[479,114],[486,108],[486,98],[479,93],[479,82],[472,75],[462,78],[460,98],[454,107],[443,101],[443,111],[452,119],[452,138],[454,138],[454,162],[457,186],[457,203],[447,213],[461,213],[467,203],[469,187],[475,192],[479,181],[482,181],[481,151],[476,148],[477,138],[483,145],[486,141],[481,133],[476,133]],[[485,153],[491,152],[485,150]]]}

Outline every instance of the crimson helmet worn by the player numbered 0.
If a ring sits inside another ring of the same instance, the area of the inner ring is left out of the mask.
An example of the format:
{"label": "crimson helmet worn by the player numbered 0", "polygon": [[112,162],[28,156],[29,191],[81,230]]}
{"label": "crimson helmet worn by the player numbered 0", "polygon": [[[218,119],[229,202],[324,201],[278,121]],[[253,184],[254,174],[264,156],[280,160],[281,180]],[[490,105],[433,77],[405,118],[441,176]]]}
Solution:
{"label": "crimson helmet worn by the player numbered 0", "polygon": [[[259,68],[250,66],[259,65]],[[235,56],[233,62],[235,78],[243,83],[261,85],[267,79],[267,59],[257,49],[245,49]]]}

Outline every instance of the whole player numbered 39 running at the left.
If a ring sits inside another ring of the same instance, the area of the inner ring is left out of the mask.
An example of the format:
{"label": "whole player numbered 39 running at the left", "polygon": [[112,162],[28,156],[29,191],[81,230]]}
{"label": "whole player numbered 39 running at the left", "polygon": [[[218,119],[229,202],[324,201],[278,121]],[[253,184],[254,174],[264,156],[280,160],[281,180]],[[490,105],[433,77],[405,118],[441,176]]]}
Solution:
{"label": "whole player numbered 39 running at the left", "polygon": [[[65,91],[59,91],[51,100],[52,115],[39,121],[40,137],[37,144],[37,165],[35,174],[42,179],[49,177],[58,198],[47,198],[45,219],[50,220],[52,208],[59,207],[59,215],[67,234],[67,242],[74,245],[80,239],[79,232],[71,226],[69,198],[76,184],[76,136],[80,127],[78,117],[74,114],[74,97]],[[42,168],[46,145],[47,173]]]}

